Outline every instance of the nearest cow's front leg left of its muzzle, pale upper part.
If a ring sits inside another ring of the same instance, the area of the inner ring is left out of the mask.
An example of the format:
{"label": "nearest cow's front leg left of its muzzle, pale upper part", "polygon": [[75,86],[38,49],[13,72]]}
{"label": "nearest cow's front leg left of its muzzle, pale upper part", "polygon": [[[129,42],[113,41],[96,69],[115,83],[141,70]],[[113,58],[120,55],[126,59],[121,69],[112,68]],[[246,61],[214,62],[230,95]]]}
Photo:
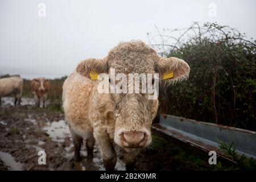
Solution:
{"label": "nearest cow's front leg left of its muzzle, pale upper part", "polygon": [[112,146],[112,140],[110,140],[107,130],[94,128],[93,135],[100,146],[101,156],[106,170],[113,171],[117,163],[117,154]]}

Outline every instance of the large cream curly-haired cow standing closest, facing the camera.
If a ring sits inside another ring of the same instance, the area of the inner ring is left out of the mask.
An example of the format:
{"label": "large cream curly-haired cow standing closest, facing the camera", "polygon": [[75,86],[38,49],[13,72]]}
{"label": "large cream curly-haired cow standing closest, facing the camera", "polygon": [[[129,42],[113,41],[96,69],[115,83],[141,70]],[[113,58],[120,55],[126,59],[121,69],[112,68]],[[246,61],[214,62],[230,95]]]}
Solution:
{"label": "large cream curly-haired cow standing closest, facing the camera", "polygon": [[[176,57],[160,57],[141,41],[119,43],[103,59],[81,61],[63,85],[63,108],[80,160],[82,139],[86,139],[88,160],[93,158],[94,139],[100,146],[104,166],[113,170],[117,155],[113,144],[123,149],[126,169],[133,169],[139,148],[151,142],[151,123],[158,99],[149,93],[99,93],[95,73],[159,73],[163,83],[173,84],[189,75],[189,65]],[[112,82],[112,80],[110,80]],[[166,84],[164,84],[166,85]]]}

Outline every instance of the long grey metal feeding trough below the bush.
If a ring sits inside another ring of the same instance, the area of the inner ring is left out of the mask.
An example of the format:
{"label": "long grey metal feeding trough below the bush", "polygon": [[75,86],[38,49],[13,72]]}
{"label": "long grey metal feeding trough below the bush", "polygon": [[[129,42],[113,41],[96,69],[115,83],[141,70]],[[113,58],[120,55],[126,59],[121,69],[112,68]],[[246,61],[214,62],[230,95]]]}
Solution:
{"label": "long grey metal feeding trough below the bush", "polygon": [[[200,122],[192,119],[159,115],[152,124],[153,131],[171,138],[172,142],[190,146],[197,151],[216,151],[222,159],[230,160],[219,148],[219,141],[233,143],[238,154],[256,159],[256,132],[235,127]],[[231,160],[230,160],[231,161]]]}

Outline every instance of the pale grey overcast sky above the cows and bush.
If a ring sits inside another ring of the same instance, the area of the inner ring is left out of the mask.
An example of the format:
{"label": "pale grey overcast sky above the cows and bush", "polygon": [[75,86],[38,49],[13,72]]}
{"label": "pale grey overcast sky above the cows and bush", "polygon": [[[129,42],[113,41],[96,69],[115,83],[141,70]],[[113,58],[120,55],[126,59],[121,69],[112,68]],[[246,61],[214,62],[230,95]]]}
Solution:
{"label": "pale grey overcast sky above the cows and bush", "polygon": [[[42,16],[46,5],[46,16]],[[216,5],[210,16],[209,4]],[[104,57],[120,41],[159,28],[217,22],[256,39],[256,1],[1,0],[0,75],[61,77],[88,57]]]}

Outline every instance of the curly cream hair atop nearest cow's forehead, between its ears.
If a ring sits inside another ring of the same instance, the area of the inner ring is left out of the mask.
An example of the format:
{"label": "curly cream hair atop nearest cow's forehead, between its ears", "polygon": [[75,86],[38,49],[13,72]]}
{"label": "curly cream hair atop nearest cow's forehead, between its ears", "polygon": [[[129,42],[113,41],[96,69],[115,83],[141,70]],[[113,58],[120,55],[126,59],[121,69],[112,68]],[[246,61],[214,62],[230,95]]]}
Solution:
{"label": "curly cream hair atop nearest cow's forehead, between its ears", "polygon": [[117,73],[154,73],[156,51],[141,40],[121,42],[106,57],[109,68]]}

